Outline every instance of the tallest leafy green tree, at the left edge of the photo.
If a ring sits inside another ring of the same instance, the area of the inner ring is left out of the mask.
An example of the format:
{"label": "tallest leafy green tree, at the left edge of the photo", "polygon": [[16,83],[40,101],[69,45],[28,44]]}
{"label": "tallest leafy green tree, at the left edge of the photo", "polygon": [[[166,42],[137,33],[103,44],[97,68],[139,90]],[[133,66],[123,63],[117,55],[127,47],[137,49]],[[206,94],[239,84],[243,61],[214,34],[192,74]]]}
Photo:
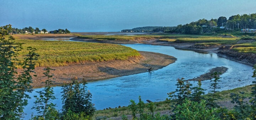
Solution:
{"label": "tallest leafy green tree, at the left edge of the photo", "polygon": [[[14,42],[9,34],[11,25],[0,27],[0,119],[21,119],[23,108],[30,97],[26,92],[32,92],[32,76],[35,60],[38,54],[35,48],[28,47],[29,53],[21,62],[17,59],[21,44]],[[8,37],[8,39],[6,39]],[[22,67],[22,72],[17,74],[16,65]]]}

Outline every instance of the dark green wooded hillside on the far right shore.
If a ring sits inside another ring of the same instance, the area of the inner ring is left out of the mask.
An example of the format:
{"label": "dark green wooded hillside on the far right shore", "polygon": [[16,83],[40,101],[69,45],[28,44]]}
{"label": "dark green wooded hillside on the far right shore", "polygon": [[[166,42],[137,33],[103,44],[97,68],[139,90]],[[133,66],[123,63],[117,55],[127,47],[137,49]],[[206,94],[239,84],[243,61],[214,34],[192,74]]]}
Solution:
{"label": "dark green wooded hillside on the far right shore", "polygon": [[[220,28],[222,27],[222,28]],[[256,13],[219,17],[218,19],[199,19],[196,22],[180,24],[176,27],[147,26],[133,29],[125,29],[121,32],[170,32],[181,34],[208,34],[213,32],[224,32],[225,30],[240,31],[241,29],[256,29]]]}

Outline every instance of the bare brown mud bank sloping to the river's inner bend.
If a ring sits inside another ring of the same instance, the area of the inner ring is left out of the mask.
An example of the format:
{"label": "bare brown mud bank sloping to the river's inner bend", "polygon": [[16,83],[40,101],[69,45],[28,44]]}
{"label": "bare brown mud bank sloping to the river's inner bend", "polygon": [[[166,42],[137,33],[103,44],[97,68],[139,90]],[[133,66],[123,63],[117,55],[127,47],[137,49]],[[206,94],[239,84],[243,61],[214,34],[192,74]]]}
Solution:
{"label": "bare brown mud bank sloping to the river's inner bend", "polygon": [[[130,58],[128,60],[111,60],[103,62],[84,62],[70,64],[68,66],[51,67],[55,69],[54,85],[61,85],[72,82],[71,79],[77,79],[79,82],[107,79],[119,76],[127,76],[147,72],[149,66],[158,70],[176,61],[176,58],[153,52],[139,52],[142,56],[139,58]],[[46,78],[43,77],[45,67],[36,67],[37,77],[33,77],[32,86],[43,86]]]}

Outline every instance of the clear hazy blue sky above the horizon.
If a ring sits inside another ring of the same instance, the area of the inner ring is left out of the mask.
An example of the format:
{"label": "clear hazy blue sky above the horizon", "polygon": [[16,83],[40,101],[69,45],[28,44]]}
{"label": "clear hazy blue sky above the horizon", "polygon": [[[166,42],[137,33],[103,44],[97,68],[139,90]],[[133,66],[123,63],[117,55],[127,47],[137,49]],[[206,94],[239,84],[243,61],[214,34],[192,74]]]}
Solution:
{"label": "clear hazy blue sky above the horizon", "polygon": [[0,26],[116,32],[256,13],[256,0],[0,0]]}

